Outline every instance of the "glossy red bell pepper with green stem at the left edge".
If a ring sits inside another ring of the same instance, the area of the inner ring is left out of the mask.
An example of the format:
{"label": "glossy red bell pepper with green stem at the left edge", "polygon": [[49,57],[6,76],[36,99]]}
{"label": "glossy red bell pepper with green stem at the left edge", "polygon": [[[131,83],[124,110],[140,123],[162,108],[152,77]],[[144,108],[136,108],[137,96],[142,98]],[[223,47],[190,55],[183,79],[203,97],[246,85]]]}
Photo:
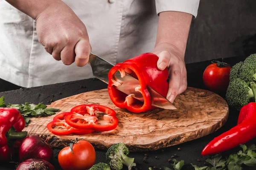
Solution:
{"label": "glossy red bell pepper with green stem at the left edge", "polygon": [[26,131],[21,132],[25,125],[20,111],[15,108],[0,108],[0,161],[8,161],[12,143],[27,136]]}

